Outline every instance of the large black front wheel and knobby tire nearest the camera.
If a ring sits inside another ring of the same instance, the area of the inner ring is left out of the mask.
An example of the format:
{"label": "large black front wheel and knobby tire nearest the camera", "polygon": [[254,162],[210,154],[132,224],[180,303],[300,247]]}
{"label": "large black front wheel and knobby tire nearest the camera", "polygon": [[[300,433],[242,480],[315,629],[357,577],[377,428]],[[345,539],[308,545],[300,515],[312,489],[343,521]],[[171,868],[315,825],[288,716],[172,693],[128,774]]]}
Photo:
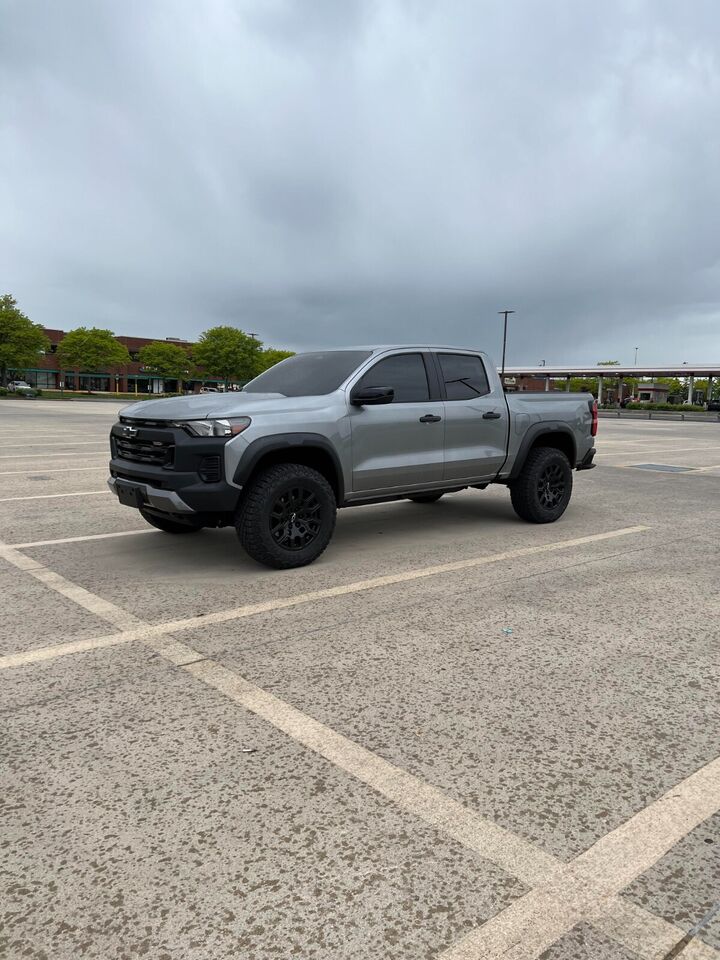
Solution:
{"label": "large black front wheel and knobby tire nearest the camera", "polygon": [[330,543],[336,514],[335,494],[321,473],[299,463],[279,463],[251,481],[235,530],[253,560],[289,570],[317,560]]}

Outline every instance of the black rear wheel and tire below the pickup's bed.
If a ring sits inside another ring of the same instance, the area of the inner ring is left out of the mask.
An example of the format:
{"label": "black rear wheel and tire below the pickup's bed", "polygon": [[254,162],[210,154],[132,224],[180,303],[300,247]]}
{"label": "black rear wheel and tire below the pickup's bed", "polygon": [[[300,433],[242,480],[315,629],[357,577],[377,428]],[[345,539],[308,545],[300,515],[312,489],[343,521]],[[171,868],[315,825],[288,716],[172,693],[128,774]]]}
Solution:
{"label": "black rear wheel and tire below the pickup's bed", "polygon": [[530,523],[553,523],[565,513],[572,494],[572,469],[561,450],[536,447],[510,485],[515,513]]}

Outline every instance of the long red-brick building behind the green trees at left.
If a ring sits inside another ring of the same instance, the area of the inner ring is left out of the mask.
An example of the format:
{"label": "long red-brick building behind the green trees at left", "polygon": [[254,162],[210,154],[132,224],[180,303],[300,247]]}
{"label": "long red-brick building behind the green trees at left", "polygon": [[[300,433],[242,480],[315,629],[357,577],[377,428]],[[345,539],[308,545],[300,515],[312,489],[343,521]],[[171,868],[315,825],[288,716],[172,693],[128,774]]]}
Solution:
{"label": "long red-brick building behind the green trees at left", "polygon": [[[57,357],[57,348],[65,336],[64,330],[50,330],[45,328],[45,336],[50,341],[50,351],[38,357],[36,367],[28,367],[13,371],[17,379],[27,380],[33,387],[41,390],[59,390],[62,385],[66,390],[92,390],[97,393],[180,393],[183,390],[199,390],[203,384],[216,386],[222,381],[212,377],[188,377],[187,380],[163,380],[153,376],[143,369],[138,360],[138,352],[149,343],[157,343],[157,337],[116,337],[123,346],[127,347],[131,362],[113,370],[61,370]],[[188,340],[179,340],[176,337],[165,338],[179,347],[190,348]]]}

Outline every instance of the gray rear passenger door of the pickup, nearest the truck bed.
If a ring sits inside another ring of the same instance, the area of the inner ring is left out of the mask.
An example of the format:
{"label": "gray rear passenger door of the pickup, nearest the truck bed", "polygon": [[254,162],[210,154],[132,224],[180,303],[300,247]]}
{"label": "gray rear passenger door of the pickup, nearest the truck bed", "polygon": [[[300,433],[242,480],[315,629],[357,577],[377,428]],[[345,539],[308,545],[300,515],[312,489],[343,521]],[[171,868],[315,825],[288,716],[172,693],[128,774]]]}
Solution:
{"label": "gray rear passenger door of the pickup, nearest the truck bed", "polygon": [[507,450],[509,414],[500,387],[494,393],[478,354],[436,354],[445,397],[445,480],[492,479]]}

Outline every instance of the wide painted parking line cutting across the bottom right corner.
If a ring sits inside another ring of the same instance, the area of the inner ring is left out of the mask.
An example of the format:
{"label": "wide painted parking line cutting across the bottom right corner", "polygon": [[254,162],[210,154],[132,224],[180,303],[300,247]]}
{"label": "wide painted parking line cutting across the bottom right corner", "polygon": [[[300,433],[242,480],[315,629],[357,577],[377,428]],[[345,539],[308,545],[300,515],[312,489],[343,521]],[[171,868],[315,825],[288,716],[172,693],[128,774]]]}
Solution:
{"label": "wide painted parking line cutting across the bottom right corner", "polygon": [[440,960],[536,960],[718,810],[720,758],[560,867],[441,953]]}

